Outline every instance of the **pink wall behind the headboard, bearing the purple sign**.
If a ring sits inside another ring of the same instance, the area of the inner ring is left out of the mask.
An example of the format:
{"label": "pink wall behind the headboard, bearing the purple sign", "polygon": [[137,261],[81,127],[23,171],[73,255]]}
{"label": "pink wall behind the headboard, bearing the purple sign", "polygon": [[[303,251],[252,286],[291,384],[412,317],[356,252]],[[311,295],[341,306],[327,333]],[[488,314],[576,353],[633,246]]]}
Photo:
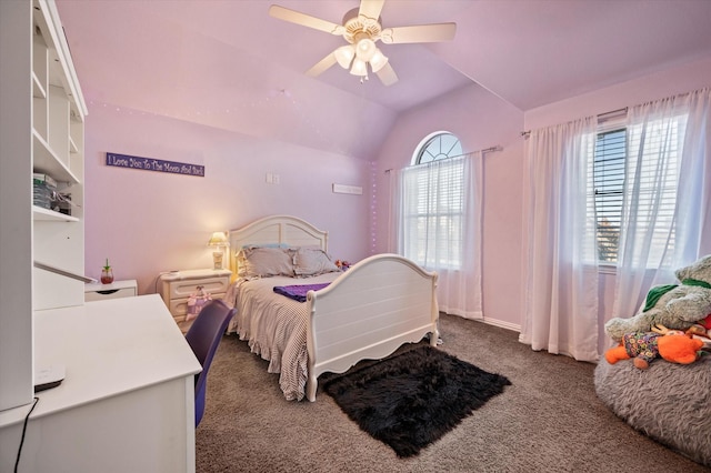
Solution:
{"label": "pink wall behind the headboard, bearing the purple sign", "polygon": [[[86,137],[88,275],[98,278],[109,258],[117,280],[136,279],[139,293],[152,293],[162,271],[212,265],[213,231],[274,213],[328,230],[334,258],[370,252],[364,160],[93,102]],[[108,167],[107,152],[201,164],[206,177]],[[267,183],[267,173],[280,183]],[[332,193],[333,183],[363,194]]]}

